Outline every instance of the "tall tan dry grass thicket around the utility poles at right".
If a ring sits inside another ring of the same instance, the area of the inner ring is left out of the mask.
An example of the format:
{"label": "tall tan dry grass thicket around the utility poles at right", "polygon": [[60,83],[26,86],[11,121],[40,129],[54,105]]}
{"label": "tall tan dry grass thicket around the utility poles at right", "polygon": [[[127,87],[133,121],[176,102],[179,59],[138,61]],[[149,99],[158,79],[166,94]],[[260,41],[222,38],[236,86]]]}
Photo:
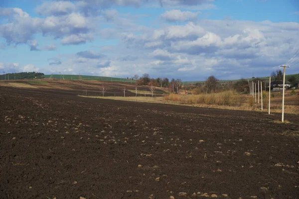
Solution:
{"label": "tall tan dry grass thicket around the utility poles at right", "polygon": [[[257,96],[258,97],[258,96]],[[268,93],[263,93],[263,110],[260,103],[255,102],[250,95],[242,95],[233,91],[215,93],[215,94],[200,94],[200,95],[169,95],[165,96],[165,100],[178,101],[183,104],[211,107],[221,109],[233,110],[254,110],[254,111],[268,111]],[[271,98],[271,112],[282,112],[282,94],[274,93]],[[285,113],[299,114],[299,96],[291,96],[290,91],[285,95]]]}

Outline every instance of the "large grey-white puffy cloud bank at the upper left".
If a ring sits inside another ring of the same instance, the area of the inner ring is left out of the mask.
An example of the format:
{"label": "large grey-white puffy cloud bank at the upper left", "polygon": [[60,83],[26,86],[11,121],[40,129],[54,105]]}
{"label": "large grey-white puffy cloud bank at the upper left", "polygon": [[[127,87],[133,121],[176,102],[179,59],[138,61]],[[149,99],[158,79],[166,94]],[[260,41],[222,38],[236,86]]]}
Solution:
{"label": "large grey-white puffy cloud bank at the upper left", "polygon": [[62,45],[83,44],[94,38],[90,19],[80,13],[38,18],[30,17],[19,8],[0,8],[0,15],[7,16],[10,21],[0,25],[0,36],[7,44],[28,44],[31,51],[37,50],[32,40],[38,33],[55,39],[62,38]]}

